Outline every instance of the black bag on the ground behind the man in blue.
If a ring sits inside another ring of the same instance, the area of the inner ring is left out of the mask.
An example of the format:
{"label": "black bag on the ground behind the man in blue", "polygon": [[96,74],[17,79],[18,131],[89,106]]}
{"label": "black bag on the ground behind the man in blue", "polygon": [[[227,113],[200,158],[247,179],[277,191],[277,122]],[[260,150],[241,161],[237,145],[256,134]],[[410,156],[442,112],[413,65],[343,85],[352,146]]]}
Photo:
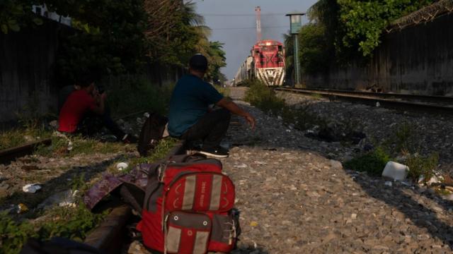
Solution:
{"label": "black bag on the ground behind the man in blue", "polygon": [[140,131],[137,150],[141,157],[147,157],[149,150],[153,150],[164,135],[168,119],[157,113],[151,113]]}

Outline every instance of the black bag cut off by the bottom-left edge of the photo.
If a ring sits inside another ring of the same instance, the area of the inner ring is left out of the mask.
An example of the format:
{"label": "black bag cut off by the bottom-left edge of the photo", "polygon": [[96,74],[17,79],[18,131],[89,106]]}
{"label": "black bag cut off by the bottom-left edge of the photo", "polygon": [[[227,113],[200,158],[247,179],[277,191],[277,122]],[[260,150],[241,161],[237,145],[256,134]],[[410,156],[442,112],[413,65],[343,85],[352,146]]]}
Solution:
{"label": "black bag cut off by the bottom-left edge of the photo", "polygon": [[101,250],[66,238],[55,237],[50,241],[31,238],[25,243],[20,254],[102,254]]}

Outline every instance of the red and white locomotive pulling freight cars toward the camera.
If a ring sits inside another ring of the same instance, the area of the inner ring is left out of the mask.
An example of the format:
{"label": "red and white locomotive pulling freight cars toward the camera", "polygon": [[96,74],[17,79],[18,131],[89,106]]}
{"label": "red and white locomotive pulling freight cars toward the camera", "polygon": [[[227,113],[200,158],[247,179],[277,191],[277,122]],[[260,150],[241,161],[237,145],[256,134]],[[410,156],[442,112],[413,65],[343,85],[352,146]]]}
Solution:
{"label": "red and white locomotive pulling freight cars toward the camera", "polygon": [[241,64],[234,85],[258,78],[265,85],[283,85],[285,80],[285,47],[275,40],[262,40],[253,45],[251,56]]}

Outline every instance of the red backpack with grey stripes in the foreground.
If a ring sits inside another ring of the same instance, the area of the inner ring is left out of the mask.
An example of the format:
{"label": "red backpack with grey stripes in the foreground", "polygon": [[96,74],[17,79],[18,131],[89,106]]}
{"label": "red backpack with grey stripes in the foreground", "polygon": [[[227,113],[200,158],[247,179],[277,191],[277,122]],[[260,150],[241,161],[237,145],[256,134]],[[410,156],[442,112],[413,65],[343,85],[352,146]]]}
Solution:
{"label": "red backpack with grey stripes in the foreground", "polygon": [[184,157],[149,172],[142,231],[145,246],[163,253],[228,253],[239,236],[234,184],[217,159]]}

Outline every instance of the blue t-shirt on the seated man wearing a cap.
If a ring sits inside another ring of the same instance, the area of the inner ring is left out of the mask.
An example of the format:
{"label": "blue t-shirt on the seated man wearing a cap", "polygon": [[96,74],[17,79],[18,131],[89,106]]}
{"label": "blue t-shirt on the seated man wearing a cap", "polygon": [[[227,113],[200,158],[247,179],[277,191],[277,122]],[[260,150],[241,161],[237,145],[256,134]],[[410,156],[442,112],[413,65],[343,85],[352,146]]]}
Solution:
{"label": "blue t-shirt on the seated man wearing a cap", "polygon": [[195,75],[184,75],[178,80],[170,100],[168,133],[180,137],[188,128],[205,116],[207,107],[223,98],[210,83]]}

